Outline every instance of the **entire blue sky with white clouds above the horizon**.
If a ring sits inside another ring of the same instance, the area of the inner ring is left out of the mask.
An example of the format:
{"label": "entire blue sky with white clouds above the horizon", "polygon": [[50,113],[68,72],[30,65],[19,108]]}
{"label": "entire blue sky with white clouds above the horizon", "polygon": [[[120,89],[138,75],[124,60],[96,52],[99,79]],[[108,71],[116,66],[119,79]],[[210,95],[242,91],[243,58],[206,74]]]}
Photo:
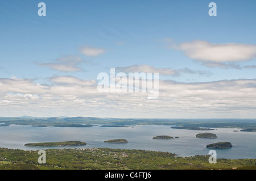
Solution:
{"label": "entire blue sky with white clouds above the horizon", "polygon": [[[255,7],[255,0],[2,0],[0,116],[255,119]],[[110,77],[111,68],[158,73],[158,96],[100,92],[98,75]]]}

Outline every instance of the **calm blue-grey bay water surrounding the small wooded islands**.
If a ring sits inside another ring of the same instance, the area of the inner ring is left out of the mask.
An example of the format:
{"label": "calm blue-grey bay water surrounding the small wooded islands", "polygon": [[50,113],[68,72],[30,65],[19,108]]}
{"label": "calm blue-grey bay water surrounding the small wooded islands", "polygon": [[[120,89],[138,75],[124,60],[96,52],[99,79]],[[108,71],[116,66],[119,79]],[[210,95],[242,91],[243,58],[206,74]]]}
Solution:
{"label": "calm blue-grey bay water surrounding the small wooded islands", "polygon": [[[10,125],[0,127],[0,147],[22,150],[40,150],[52,148],[119,148],[168,151],[180,157],[208,155],[212,149],[206,145],[214,142],[229,141],[230,149],[215,149],[217,158],[256,158],[256,132],[233,132],[240,129],[213,128],[213,131],[195,131],[172,129],[171,125],[135,125],[133,127],[94,127],[60,128],[32,127],[31,125]],[[175,125],[174,125],[175,126]],[[196,138],[197,133],[210,132],[216,139]],[[179,137],[172,140],[153,140],[152,137],[168,135]],[[105,140],[125,138],[127,144],[109,144]],[[30,147],[33,142],[83,141],[85,146]]]}

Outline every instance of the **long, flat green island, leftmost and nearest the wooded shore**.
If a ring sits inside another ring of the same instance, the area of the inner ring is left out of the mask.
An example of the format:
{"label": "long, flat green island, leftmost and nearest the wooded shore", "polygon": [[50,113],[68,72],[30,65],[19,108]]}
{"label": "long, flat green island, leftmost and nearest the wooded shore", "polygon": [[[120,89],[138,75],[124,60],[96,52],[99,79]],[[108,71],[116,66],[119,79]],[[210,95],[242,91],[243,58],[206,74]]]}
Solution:
{"label": "long, flat green island, leftmost and nearest the wooded shore", "polygon": [[86,145],[86,142],[81,141],[62,141],[62,142],[38,142],[29,143],[24,146],[81,146]]}

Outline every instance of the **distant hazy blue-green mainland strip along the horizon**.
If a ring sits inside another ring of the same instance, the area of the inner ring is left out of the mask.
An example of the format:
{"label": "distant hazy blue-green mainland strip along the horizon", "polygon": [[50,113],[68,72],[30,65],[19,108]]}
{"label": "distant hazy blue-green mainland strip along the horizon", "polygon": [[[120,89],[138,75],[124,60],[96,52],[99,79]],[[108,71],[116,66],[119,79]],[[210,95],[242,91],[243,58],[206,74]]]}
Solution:
{"label": "distant hazy blue-green mainland strip along the horizon", "polygon": [[[191,127],[189,129],[202,130],[205,128],[240,128],[256,129],[255,119],[119,119],[100,117],[0,117],[0,124],[18,125],[55,125],[81,124],[81,125],[176,125]],[[197,127],[197,129],[195,129]],[[198,129],[201,128],[201,129]],[[177,128],[183,129],[183,128]]]}

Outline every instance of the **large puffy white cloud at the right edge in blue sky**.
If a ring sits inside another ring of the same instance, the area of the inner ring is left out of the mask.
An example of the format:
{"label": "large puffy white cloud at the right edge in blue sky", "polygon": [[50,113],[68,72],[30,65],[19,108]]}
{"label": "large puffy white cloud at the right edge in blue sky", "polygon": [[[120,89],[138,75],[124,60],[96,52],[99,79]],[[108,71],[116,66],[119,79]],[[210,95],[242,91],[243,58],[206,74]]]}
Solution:
{"label": "large puffy white cloud at the right edge in blue sky", "polygon": [[206,66],[237,68],[234,62],[250,61],[256,58],[256,45],[223,43],[214,44],[208,41],[195,40],[180,44],[171,44],[171,48],[182,50],[185,55]]}

